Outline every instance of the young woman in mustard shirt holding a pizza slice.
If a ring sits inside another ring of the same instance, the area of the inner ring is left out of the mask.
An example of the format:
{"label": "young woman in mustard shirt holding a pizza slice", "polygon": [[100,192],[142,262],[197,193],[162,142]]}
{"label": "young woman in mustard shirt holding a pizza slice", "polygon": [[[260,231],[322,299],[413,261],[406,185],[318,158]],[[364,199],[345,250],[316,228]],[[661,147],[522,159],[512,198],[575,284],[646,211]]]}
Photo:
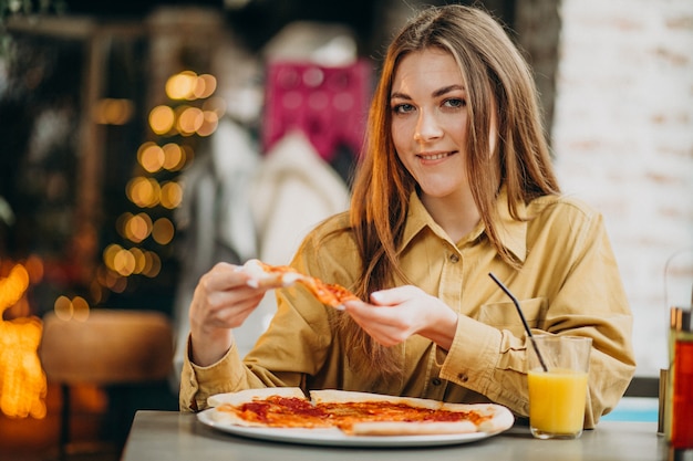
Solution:
{"label": "young woman in mustard shirt holding a pizza slice", "polygon": [[351,289],[344,311],[302,289],[245,359],[231,328],[263,292],[218,264],[190,306],[183,410],[245,388],[299,386],[494,401],[528,413],[527,336],[592,338],[586,427],[633,370],[631,313],[599,213],[562,197],[532,77],[503,28],[462,6],[427,9],[390,45],[349,212],[292,265]]}

